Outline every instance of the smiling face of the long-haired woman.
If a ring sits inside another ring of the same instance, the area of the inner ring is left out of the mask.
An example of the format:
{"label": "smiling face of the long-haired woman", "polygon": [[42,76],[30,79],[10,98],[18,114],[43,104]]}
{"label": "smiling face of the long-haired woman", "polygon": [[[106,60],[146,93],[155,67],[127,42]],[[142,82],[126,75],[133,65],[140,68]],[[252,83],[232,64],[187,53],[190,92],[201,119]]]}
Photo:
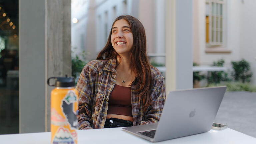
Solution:
{"label": "smiling face of the long-haired woman", "polygon": [[131,27],[124,19],[116,21],[112,28],[111,43],[118,54],[130,54],[133,45]]}

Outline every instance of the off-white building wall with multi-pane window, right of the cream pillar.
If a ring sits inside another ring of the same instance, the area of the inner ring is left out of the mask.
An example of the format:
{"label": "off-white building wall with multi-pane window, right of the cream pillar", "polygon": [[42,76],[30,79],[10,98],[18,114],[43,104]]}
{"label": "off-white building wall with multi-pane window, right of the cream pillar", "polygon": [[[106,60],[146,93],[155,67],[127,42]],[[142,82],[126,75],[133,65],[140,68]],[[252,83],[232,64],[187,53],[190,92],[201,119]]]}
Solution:
{"label": "off-white building wall with multi-pane window, right of the cream pillar", "polygon": [[223,59],[231,73],[231,62],[245,59],[256,85],[255,6],[252,0],[193,1],[193,61],[211,65]]}

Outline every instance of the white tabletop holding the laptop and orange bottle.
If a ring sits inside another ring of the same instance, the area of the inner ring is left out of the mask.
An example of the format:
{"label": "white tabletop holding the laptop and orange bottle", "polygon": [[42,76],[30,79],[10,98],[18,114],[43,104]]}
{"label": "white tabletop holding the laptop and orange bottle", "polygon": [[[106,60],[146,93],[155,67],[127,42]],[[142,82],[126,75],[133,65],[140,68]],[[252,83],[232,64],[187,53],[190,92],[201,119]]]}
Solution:
{"label": "white tabletop holding the laptop and orange bottle", "polygon": [[[50,144],[51,133],[0,135],[1,144]],[[153,144],[122,130],[122,128],[78,131],[78,144]],[[256,138],[232,129],[210,130],[205,133],[157,142],[160,144],[256,144]]]}

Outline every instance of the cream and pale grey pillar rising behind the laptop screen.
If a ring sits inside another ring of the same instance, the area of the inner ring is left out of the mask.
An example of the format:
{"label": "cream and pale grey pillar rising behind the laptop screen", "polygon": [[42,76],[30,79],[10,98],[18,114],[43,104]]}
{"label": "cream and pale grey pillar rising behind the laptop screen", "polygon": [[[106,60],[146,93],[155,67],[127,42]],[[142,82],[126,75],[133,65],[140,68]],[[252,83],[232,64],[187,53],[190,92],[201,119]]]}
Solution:
{"label": "cream and pale grey pillar rising behind the laptop screen", "polygon": [[166,1],[166,94],[193,88],[193,1]]}

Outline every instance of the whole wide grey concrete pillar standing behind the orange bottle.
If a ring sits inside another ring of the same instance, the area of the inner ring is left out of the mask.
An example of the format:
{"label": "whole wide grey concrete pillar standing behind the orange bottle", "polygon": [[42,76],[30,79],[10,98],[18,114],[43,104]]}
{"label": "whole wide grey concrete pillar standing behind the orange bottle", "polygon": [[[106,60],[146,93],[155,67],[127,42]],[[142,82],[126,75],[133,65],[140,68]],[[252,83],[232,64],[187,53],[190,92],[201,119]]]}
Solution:
{"label": "whole wide grey concrete pillar standing behind the orange bottle", "polygon": [[50,131],[46,80],[71,75],[70,0],[19,0],[19,132]]}

